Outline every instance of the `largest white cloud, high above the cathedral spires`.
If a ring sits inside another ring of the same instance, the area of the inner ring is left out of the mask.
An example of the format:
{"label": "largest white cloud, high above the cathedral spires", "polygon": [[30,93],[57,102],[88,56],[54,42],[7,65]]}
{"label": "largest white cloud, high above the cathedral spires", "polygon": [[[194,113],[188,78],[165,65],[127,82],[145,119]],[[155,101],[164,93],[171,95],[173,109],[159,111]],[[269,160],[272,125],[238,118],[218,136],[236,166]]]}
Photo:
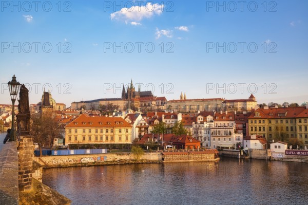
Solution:
{"label": "largest white cloud, high above the cathedral spires", "polygon": [[[132,6],[130,8],[122,8],[120,11],[111,13],[111,20],[130,21],[138,23],[143,18],[151,18],[154,15],[160,15],[164,5],[147,3],[145,6]],[[134,25],[134,24],[132,24]]]}

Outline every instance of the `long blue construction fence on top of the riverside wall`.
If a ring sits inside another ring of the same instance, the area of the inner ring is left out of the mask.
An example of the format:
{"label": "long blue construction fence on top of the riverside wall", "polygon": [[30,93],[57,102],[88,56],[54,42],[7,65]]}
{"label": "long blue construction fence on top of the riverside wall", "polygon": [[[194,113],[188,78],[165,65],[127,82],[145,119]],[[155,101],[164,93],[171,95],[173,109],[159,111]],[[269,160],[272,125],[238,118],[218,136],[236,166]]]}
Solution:
{"label": "long blue construction fence on top of the riverside wall", "polygon": [[[90,149],[90,150],[43,150],[43,155],[91,155],[106,154],[107,149]],[[40,151],[34,151],[35,156],[40,156]]]}

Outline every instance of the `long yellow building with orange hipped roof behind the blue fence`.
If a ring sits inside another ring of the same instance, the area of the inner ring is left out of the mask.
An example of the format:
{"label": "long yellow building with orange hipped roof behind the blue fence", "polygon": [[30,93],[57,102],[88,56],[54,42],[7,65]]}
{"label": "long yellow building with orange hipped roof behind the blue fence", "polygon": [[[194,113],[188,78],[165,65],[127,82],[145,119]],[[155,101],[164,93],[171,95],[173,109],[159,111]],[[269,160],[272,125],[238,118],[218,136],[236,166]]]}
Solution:
{"label": "long yellow building with orange hipped roof behind the blue fence", "polygon": [[122,118],[83,114],[65,126],[65,144],[129,144],[131,128]]}

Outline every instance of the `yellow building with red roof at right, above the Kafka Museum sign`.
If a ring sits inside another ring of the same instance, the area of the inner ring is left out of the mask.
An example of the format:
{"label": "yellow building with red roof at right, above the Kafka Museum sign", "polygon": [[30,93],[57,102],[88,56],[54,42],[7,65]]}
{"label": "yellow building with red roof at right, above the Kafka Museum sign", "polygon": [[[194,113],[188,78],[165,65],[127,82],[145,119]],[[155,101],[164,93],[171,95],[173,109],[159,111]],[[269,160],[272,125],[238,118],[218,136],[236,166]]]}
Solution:
{"label": "yellow building with red roof at right, above the Kafka Museum sign", "polygon": [[[259,108],[248,118],[249,135],[261,135],[271,142],[284,141],[308,146],[306,107]],[[307,137],[307,138],[305,138]]]}

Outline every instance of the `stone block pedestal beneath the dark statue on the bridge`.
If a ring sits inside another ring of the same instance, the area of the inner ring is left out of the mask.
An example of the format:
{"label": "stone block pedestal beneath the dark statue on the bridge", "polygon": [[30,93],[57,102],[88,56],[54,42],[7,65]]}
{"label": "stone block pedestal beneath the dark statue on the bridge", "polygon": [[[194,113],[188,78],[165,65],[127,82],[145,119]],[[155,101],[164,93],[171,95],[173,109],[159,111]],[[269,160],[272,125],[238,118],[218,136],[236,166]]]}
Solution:
{"label": "stone block pedestal beneath the dark statue on the bridge", "polygon": [[18,147],[18,187],[19,191],[32,189],[33,137],[22,136]]}

